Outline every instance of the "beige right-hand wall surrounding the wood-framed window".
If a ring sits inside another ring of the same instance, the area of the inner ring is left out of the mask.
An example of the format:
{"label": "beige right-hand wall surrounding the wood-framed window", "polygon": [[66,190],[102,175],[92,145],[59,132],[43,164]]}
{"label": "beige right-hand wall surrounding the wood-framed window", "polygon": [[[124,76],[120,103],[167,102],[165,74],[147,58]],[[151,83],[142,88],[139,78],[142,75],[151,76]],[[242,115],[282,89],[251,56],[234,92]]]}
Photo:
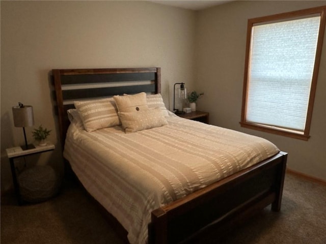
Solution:
{"label": "beige right-hand wall surrounding the wood-framed window", "polygon": [[198,12],[196,88],[205,94],[198,107],[210,112],[211,124],[264,137],[289,153],[288,168],[326,180],[326,40],[308,141],[239,125],[247,20],[322,5],[326,1],[237,1]]}

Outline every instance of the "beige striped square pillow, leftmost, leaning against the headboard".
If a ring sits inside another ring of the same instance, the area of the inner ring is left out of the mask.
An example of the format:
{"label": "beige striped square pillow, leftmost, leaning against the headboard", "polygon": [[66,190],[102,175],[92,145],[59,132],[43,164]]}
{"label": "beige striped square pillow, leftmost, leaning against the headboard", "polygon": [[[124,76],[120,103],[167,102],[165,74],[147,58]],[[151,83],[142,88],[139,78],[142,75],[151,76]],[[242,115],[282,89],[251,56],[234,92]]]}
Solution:
{"label": "beige striped square pillow, leftmost, leaning against the headboard", "polygon": [[120,125],[113,98],[76,101],[74,104],[88,132]]}

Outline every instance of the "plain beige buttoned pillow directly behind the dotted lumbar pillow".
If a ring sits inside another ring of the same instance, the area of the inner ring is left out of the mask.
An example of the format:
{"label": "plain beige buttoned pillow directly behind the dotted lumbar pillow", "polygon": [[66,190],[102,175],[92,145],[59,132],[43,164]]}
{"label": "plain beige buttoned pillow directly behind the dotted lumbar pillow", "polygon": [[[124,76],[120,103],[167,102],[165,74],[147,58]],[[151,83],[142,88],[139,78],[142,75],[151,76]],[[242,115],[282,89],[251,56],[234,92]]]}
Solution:
{"label": "plain beige buttoned pillow directly behind the dotted lumbar pillow", "polygon": [[146,93],[128,96],[114,96],[119,112],[139,112],[148,110]]}

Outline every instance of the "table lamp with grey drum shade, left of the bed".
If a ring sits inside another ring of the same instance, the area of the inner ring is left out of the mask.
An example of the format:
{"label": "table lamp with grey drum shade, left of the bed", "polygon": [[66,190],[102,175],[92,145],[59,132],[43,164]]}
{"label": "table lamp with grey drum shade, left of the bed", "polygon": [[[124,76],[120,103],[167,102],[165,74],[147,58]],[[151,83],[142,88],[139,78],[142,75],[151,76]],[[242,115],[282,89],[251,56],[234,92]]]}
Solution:
{"label": "table lamp with grey drum shade, left of the bed", "polygon": [[23,150],[35,148],[33,144],[27,144],[25,133],[25,127],[34,125],[33,107],[29,105],[24,106],[22,103],[18,103],[18,106],[12,107],[12,113],[14,116],[15,127],[22,127],[24,132],[25,145],[22,145],[21,148]]}

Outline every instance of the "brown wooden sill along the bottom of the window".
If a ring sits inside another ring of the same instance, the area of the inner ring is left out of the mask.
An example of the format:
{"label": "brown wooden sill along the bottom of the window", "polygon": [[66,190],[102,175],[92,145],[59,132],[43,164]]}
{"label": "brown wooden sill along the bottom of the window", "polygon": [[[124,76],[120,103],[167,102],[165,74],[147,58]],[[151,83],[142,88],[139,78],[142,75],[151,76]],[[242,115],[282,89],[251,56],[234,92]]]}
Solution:
{"label": "brown wooden sill along the bottom of the window", "polygon": [[262,125],[258,125],[258,124],[252,124],[252,123],[248,123],[248,122],[244,122],[244,123],[240,122],[240,125],[241,125],[241,127],[256,130],[256,131],[263,131],[263,132],[267,132],[267,133],[271,133],[271,134],[291,137],[291,138],[305,140],[305,141],[308,141],[308,139],[310,138],[309,135],[299,134],[299,133],[291,132],[291,131],[285,130],[285,129],[284,130],[274,129],[271,127],[262,126]]}

